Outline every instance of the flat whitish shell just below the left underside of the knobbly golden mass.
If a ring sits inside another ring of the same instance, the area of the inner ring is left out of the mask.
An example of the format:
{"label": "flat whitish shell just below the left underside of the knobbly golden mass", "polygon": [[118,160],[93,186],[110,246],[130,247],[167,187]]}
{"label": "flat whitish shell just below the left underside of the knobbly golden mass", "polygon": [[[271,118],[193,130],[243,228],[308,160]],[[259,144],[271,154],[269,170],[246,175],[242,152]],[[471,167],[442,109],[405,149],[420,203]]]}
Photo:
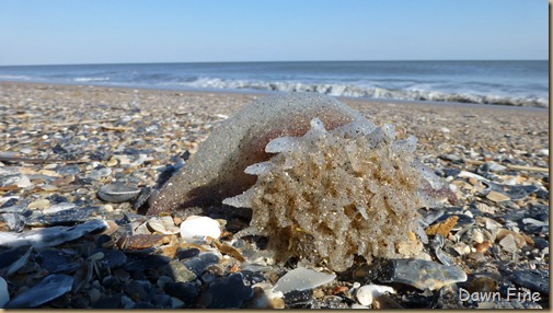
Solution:
{"label": "flat whitish shell just below the left underside of the knobbly golden mass", "polygon": [[293,290],[313,289],[329,283],[336,278],[336,274],[319,273],[313,269],[298,267],[280,277],[275,283],[275,291],[287,293]]}

